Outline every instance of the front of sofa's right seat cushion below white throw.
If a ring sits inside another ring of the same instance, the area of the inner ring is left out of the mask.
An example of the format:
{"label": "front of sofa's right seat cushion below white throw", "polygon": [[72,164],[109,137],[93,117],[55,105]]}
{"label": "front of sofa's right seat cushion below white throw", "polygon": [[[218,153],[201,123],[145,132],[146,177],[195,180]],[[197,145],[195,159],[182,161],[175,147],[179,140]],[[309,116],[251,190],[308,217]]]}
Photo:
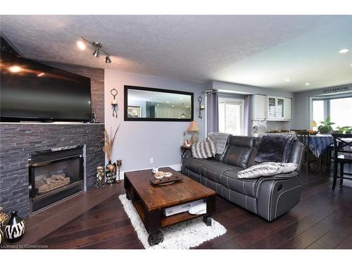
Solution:
{"label": "front of sofa's right seat cushion below white throw", "polygon": [[256,197],[256,185],[260,179],[240,179],[238,177],[238,173],[241,170],[241,168],[235,167],[233,170],[224,172],[220,183],[233,191],[239,192],[240,194]]}

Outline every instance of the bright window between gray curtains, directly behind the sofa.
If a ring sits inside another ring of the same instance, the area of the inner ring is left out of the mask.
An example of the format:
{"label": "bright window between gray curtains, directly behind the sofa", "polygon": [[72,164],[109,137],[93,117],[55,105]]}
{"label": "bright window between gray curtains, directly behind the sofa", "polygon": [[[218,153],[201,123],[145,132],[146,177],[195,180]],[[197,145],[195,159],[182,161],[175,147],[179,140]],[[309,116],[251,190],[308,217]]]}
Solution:
{"label": "bright window between gray curtains, directly behind the sofa", "polygon": [[219,132],[244,134],[244,100],[219,98]]}

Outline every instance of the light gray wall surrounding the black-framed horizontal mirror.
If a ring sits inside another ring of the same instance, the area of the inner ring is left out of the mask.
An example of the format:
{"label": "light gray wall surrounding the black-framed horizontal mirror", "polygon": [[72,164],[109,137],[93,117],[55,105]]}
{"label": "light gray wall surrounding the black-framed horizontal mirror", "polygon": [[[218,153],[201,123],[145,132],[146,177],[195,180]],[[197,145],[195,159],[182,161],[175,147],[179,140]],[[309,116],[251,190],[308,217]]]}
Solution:
{"label": "light gray wall surrounding the black-framed horizontal mirror", "polygon": [[[205,135],[205,113],[203,119],[198,118],[198,96],[203,102],[205,89],[203,83],[187,82],[151,75],[123,73],[105,70],[105,125],[106,130],[120,124],[113,146],[113,160],[122,159],[122,171],[152,168],[155,166],[180,165],[180,146],[182,132],[187,130],[189,122],[146,122],[123,120],[124,85],[152,87],[160,89],[194,92],[194,120],[201,128],[200,139]],[[112,116],[110,90],[118,90],[118,118]],[[191,135],[187,134],[190,138]],[[153,158],[153,163],[149,159]]]}

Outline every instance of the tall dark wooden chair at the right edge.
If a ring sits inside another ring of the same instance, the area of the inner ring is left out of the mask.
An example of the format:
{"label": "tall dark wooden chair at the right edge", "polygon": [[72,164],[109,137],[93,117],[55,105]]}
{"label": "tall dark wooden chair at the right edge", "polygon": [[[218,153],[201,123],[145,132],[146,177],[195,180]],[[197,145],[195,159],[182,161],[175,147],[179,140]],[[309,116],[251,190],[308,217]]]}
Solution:
{"label": "tall dark wooden chair at the right edge", "polygon": [[[332,190],[335,190],[337,178],[340,178],[340,185],[344,183],[344,179],[352,180],[352,177],[344,177],[344,175],[352,175],[350,172],[344,172],[345,164],[352,164],[352,134],[332,134],[334,138],[334,181],[332,182]],[[340,175],[337,175],[337,167],[340,164]]]}

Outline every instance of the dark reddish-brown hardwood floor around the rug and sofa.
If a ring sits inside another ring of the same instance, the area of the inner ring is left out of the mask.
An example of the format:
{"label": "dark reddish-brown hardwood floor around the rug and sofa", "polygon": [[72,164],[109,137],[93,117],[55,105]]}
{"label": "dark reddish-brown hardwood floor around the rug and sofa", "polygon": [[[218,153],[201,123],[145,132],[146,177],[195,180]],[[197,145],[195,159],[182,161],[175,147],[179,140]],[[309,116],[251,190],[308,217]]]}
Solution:
{"label": "dark reddish-brown hardwood floor around the rug and sofa", "polygon": [[[329,173],[301,173],[300,203],[267,222],[217,197],[214,219],[227,233],[197,249],[352,249],[352,188],[332,192]],[[120,184],[123,194],[123,184]],[[49,249],[143,249],[115,194],[44,237]]]}

